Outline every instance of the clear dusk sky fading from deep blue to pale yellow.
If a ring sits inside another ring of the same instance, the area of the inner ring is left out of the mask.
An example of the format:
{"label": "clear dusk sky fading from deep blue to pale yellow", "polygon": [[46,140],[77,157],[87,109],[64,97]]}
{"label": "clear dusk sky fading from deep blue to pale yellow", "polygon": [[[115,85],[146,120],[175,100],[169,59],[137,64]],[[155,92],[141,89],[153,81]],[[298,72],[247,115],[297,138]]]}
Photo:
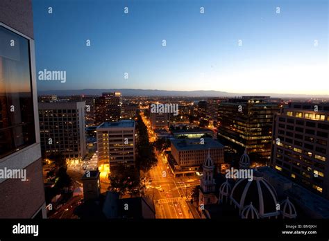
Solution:
{"label": "clear dusk sky fading from deep blue to pale yellow", "polygon": [[326,0],[33,0],[33,15],[37,72],[67,71],[38,90],[329,94]]}

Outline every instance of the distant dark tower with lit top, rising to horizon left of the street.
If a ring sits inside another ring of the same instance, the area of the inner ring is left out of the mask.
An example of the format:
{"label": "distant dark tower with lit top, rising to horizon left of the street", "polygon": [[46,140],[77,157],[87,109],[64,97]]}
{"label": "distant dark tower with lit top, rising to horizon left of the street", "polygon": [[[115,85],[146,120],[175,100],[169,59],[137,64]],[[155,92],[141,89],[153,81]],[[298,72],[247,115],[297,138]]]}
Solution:
{"label": "distant dark tower with lit top, rising to horizon left of the street", "polygon": [[95,124],[103,122],[118,121],[121,119],[121,93],[102,93],[102,96],[95,100]]}

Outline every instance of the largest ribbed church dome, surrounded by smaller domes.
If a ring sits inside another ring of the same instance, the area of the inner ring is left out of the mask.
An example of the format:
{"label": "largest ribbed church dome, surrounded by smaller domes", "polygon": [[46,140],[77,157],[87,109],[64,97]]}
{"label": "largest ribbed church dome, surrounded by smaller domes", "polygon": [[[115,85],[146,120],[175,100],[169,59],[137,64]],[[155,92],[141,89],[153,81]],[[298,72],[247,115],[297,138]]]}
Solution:
{"label": "largest ribbed church dome, surrounded by smaller domes", "polygon": [[276,204],[278,204],[276,190],[257,170],[253,170],[252,181],[248,181],[248,179],[237,181],[230,193],[230,199],[240,211],[252,202],[260,217],[272,217],[280,214],[276,210]]}

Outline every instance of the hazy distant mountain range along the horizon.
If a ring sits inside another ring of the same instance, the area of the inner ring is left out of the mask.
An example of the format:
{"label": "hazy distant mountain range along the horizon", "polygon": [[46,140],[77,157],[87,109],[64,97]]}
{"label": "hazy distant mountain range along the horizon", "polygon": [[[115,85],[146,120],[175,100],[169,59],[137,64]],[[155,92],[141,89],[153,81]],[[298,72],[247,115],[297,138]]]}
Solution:
{"label": "hazy distant mountain range along the horizon", "polygon": [[187,97],[235,97],[235,96],[271,96],[272,98],[329,98],[328,95],[307,95],[296,93],[229,93],[224,91],[166,91],[160,89],[66,89],[38,91],[39,95],[101,95],[103,92],[121,92],[122,96],[187,96]]}

